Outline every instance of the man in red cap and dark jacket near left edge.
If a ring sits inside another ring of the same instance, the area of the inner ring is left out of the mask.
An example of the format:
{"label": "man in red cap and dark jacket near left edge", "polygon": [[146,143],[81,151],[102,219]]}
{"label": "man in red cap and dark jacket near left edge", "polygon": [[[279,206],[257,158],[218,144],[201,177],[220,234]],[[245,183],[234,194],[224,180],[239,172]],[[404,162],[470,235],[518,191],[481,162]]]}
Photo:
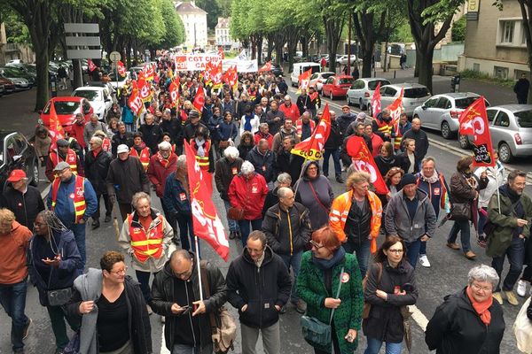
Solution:
{"label": "man in red cap and dark jacket near left edge", "polygon": [[41,192],[27,184],[23,170],[12,170],[7,181],[11,185],[4,190],[0,204],[12,211],[21,225],[33,230],[35,217],[44,210]]}

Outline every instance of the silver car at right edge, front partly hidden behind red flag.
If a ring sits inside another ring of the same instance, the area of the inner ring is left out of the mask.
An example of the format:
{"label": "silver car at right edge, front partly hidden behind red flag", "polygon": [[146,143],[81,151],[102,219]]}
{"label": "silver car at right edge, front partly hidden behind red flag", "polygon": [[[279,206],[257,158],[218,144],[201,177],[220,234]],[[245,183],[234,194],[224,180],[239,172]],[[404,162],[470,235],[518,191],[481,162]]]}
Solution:
{"label": "silver car at right edge, front partly hidden behind red flag", "polygon": [[[532,156],[532,104],[497,105],[486,112],[491,142],[502,162]],[[467,149],[473,144],[473,136],[460,135],[458,141]]]}

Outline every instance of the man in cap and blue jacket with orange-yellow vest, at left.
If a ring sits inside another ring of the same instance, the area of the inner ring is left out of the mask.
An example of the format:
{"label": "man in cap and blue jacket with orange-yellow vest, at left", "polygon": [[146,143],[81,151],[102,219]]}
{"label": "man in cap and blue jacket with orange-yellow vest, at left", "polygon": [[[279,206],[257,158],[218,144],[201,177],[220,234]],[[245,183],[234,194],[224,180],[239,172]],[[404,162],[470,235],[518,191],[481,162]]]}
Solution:
{"label": "man in cap and blue jacket with orange-yellow vest, at left", "polygon": [[70,165],[64,161],[59,162],[53,172],[56,178],[51,183],[47,206],[74,233],[75,243],[82,256],[79,270],[83,272],[87,260],[85,223],[98,208],[96,192],[89,180],[72,173]]}

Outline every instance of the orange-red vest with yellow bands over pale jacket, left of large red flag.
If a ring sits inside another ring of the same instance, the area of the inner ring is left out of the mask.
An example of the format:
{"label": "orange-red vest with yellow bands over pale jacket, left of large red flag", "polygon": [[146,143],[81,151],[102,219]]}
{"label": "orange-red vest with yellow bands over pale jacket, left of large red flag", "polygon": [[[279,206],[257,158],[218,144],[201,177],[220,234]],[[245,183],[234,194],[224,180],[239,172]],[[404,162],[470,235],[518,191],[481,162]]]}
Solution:
{"label": "orange-red vest with yellow bands over pale jacket, left of large red flag", "polygon": [[[144,227],[133,226],[133,215],[128,214],[129,237],[131,238],[131,248],[135,258],[141,263],[145,263],[148,258],[160,258],[162,255],[163,239],[163,219],[158,215],[152,221],[152,225],[146,231]],[[140,223],[137,223],[140,225]]]}

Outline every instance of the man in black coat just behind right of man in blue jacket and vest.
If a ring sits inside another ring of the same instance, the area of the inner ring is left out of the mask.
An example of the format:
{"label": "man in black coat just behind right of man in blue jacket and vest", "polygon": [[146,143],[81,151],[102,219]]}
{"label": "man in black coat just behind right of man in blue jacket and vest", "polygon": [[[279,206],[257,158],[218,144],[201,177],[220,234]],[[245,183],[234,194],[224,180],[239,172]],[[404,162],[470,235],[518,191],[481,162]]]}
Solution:
{"label": "man in black coat just behind right of man in blue jacket and vest", "polygon": [[106,204],[106,219],[105,222],[111,221],[111,212],[113,212],[113,204],[109,203],[109,195],[107,194],[106,178],[111,165],[111,155],[102,149],[102,140],[98,136],[90,138],[90,151],[85,154],[85,177],[90,181],[94,191],[96,192],[96,199],[98,200],[98,209],[92,215],[92,229],[99,227],[100,216],[100,198],[104,197],[104,204]]}

